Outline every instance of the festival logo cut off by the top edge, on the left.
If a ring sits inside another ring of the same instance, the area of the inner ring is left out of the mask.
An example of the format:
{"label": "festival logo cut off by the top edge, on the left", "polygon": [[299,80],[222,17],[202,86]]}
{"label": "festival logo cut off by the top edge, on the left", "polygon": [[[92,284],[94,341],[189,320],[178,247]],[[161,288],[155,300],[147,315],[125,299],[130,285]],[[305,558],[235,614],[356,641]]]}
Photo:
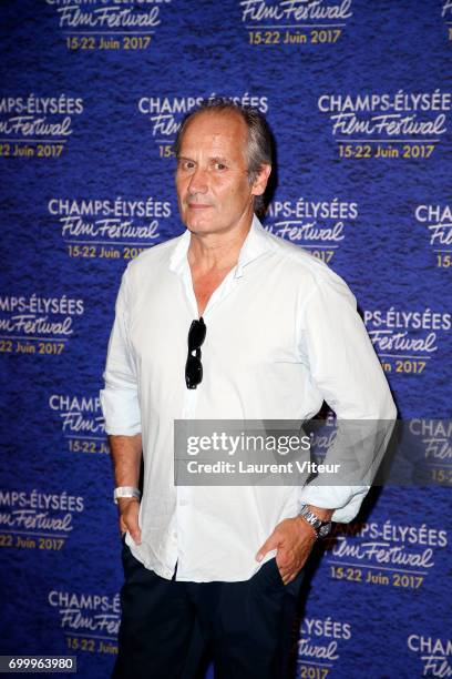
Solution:
{"label": "festival logo cut off by the top edge, on the left", "polygon": [[68,50],[147,50],[172,0],[45,0]]}

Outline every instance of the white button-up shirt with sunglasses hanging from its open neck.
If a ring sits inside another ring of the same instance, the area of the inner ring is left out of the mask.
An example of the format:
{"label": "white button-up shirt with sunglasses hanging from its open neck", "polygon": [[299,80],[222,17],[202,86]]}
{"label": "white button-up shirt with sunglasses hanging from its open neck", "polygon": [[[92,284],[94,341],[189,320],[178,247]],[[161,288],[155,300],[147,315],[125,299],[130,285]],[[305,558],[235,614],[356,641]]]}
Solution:
{"label": "white button-up shirt with sunglasses hanging from its open neck", "polygon": [[257,217],[205,308],[204,376],[188,389],[187,335],[198,317],[189,240],[186,231],[129,264],[101,402],[109,434],[143,437],[142,544],[127,534],[132,554],[163,578],[177,563],[177,580],[245,580],[261,565],[261,544],[304,503],[350,521],[369,486],[176,487],[174,420],[301,420],[323,399],[343,419],[392,419],[396,408],[346,283]]}

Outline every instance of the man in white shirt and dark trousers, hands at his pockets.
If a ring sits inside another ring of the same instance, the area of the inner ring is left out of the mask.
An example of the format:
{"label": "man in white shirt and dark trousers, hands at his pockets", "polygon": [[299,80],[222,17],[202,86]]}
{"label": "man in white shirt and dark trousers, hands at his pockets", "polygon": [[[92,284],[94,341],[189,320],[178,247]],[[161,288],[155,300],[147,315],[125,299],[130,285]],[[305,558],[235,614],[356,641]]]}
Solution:
{"label": "man in white shirt and dark trousers, hands at his pockets", "polygon": [[176,156],[187,230],[127,266],[101,393],[125,533],[114,677],[182,677],[197,620],[216,677],[274,679],[312,545],[369,487],[176,487],[174,420],[301,420],[323,399],[381,419],[394,405],[346,284],[254,215],[271,171],[260,114],[207,103]]}

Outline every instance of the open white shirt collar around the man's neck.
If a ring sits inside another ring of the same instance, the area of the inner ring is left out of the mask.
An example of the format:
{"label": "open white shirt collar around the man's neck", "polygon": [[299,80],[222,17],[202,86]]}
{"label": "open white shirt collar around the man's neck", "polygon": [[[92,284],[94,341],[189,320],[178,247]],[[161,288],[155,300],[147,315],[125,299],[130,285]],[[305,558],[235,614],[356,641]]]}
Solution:
{"label": "open white shirt collar around the man's neck", "polygon": [[[187,252],[189,246],[191,233],[188,229],[185,233],[182,234],[177,239],[177,244],[173,250],[173,253],[170,259],[170,271],[174,271],[175,273],[182,273],[186,262],[187,262]],[[245,267],[257,260],[264,253],[274,250],[275,244],[273,237],[269,233],[266,232],[258,217],[254,215],[251,226],[247,233],[247,236],[242,245],[236,272],[234,274],[235,278],[239,278],[244,275]]]}

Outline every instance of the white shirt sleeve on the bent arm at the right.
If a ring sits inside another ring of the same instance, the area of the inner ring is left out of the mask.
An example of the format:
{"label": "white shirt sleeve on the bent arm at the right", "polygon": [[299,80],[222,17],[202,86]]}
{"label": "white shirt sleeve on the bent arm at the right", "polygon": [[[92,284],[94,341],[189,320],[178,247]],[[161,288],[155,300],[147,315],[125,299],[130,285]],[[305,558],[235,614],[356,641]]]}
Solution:
{"label": "white shirt sleeve on the bent arm at the right", "polygon": [[[357,312],[355,296],[333,272],[315,282],[302,306],[299,348],[311,379],[337,419],[393,420],[397,409],[380,362]],[[386,444],[392,432],[388,426]],[[369,485],[316,485],[300,500],[335,509],[332,520],[351,521]]]}

